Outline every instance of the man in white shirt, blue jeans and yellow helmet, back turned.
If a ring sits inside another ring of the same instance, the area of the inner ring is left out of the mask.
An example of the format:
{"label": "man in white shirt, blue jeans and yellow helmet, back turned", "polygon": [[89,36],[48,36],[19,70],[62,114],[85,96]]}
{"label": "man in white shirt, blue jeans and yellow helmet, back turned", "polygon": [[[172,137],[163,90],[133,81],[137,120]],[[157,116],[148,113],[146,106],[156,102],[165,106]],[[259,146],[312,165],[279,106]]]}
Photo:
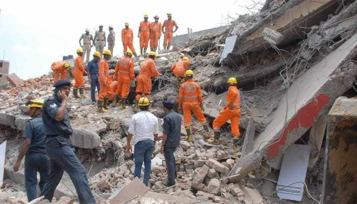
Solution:
{"label": "man in white shirt, blue jeans and yellow helmet, back turned", "polygon": [[154,152],[155,144],[158,140],[159,124],[158,118],[148,112],[150,106],[149,99],[145,97],[140,98],[138,105],[140,112],[133,115],[130,121],[126,153],[130,154],[132,151],[130,142],[134,135],[134,178],[138,177],[140,179],[141,166],[144,161],[145,171],[143,183],[147,186],[150,179],[152,152]]}

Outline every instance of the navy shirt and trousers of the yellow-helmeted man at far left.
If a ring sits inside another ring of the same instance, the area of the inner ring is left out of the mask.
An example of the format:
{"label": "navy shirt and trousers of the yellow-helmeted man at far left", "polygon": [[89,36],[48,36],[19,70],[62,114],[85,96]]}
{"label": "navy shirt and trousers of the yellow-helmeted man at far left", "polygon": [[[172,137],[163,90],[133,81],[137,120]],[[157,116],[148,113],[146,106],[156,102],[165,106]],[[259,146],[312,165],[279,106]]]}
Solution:
{"label": "navy shirt and trousers of the yellow-helmeted man at far left", "polygon": [[38,183],[41,191],[45,182],[48,180],[49,159],[45,150],[45,134],[41,115],[30,119],[25,126],[23,138],[31,139],[30,147],[25,155],[25,187],[27,198],[31,200],[37,198],[37,172],[40,173]]}

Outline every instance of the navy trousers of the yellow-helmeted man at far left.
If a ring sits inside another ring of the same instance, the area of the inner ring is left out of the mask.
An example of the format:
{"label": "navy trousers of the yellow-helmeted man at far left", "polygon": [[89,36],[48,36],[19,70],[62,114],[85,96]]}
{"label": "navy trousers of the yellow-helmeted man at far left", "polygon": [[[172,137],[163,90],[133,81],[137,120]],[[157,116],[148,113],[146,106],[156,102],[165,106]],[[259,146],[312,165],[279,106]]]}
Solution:
{"label": "navy trousers of the yellow-helmeted man at far left", "polygon": [[49,159],[46,154],[30,154],[25,156],[25,187],[27,199],[30,202],[37,198],[37,172],[40,173],[38,185],[42,191],[45,182],[48,180]]}

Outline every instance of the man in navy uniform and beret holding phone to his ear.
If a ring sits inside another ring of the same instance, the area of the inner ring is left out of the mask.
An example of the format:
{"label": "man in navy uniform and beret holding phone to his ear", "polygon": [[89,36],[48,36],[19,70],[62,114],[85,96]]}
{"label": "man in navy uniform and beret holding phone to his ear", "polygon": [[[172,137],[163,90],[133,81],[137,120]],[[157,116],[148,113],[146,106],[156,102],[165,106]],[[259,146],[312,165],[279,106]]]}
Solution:
{"label": "man in navy uniform and beret holding phone to his ear", "polygon": [[47,98],[42,109],[43,129],[46,135],[46,153],[50,159],[48,180],[42,195],[52,201],[54,192],[65,170],[77,191],[80,203],[95,203],[89,188],[86,171],[70,146],[72,127],[66,112],[70,82],[55,83],[54,95]]}

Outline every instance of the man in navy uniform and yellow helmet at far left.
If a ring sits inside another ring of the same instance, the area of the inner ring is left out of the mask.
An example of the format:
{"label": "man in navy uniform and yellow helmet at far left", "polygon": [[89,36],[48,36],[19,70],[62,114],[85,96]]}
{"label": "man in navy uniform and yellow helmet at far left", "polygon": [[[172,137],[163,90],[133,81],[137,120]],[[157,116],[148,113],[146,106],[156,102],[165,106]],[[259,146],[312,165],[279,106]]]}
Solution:
{"label": "man in navy uniform and yellow helmet at far left", "polygon": [[43,190],[45,182],[48,180],[49,159],[46,155],[46,137],[43,131],[41,109],[43,99],[29,101],[30,110],[28,114],[32,117],[25,125],[23,133],[23,144],[20,148],[14,172],[19,170],[21,160],[25,157],[25,187],[28,201],[37,198],[37,172],[40,173],[40,190]]}

